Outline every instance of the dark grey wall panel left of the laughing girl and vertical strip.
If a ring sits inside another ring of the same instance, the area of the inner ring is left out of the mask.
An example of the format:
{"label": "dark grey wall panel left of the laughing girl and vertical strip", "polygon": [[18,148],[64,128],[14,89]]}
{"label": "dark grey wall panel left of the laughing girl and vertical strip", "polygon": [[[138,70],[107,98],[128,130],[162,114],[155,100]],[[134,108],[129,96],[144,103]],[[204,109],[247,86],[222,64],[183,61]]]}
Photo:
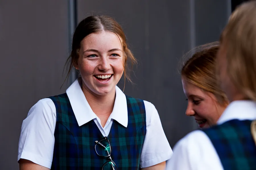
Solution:
{"label": "dark grey wall panel left of the laughing girl and vertical strip", "polygon": [[18,169],[22,120],[60,90],[68,54],[67,1],[0,1],[0,169]]}

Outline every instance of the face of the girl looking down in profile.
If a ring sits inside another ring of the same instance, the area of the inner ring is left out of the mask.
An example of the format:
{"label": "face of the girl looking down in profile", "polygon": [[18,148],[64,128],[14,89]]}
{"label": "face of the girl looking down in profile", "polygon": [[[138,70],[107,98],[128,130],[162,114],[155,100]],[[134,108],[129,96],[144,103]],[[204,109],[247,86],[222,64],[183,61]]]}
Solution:
{"label": "face of the girl looking down in profile", "polygon": [[225,107],[221,106],[215,95],[206,92],[182,78],[184,94],[187,96],[187,116],[194,116],[200,128],[215,125]]}

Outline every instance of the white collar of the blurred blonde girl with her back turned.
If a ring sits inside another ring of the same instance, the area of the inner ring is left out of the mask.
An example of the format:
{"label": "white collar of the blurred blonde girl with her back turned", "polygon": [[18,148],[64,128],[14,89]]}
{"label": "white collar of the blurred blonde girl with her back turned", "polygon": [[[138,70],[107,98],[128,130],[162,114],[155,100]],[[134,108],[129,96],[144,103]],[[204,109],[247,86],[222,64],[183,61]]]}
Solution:
{"label": "white collar of the blurred blonde girl with her back turned", "polygon": [[238,100],[231,102],[220,116],[217,124],[222,124],[233,119],[255,120],[256,102],[250,100]]}

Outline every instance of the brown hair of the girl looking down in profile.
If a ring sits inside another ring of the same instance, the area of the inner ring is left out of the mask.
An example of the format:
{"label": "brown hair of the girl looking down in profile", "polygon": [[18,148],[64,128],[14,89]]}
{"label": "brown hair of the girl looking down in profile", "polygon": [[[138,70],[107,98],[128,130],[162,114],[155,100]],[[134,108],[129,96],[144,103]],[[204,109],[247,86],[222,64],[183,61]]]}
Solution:
{"label": "brown hair of the girl looking down in profile", "polygon": [[197,52],[183,64],[181,76],[195,86],[214,94],[218,102],[225,105],[228,99],[218,85],[215,75],[218,49],[218,42],[195,48]]}

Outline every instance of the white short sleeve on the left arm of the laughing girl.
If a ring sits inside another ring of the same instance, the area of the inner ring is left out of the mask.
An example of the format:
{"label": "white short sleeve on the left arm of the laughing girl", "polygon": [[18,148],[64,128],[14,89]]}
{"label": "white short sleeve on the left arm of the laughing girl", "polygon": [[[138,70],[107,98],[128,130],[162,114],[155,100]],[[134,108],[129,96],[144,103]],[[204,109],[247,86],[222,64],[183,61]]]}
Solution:
{"label": "white short sleeve on the left arm of the laughing girl", "polygon": [[22,122],[18,145],[18,161],[30,160],[51,168],[54,148],[56,108],[49,98],[38,101]]}

